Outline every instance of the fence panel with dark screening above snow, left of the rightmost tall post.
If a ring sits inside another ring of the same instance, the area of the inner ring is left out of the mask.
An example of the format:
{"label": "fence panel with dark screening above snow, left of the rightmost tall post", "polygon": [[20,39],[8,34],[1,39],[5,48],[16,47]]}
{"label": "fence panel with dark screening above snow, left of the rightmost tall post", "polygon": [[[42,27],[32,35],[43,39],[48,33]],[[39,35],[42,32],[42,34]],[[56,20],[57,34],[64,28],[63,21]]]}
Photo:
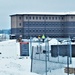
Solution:
{"label": "fence panel with dark screening above snow, left of the rightmost tall post", "polygon": [[50,61],[66,64],[67,56],[69,57],[69,59],[71,58],[69,45],[52,45],[51,46]]}

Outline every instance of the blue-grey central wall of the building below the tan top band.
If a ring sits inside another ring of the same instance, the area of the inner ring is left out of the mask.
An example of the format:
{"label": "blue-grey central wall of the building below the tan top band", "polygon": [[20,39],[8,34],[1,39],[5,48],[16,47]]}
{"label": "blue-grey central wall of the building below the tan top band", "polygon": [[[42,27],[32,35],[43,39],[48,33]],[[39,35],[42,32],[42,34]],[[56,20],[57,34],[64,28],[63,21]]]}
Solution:
{"label": "blue-grey central wall of the building below the tan top band", "polygon": [[38,36],[45,34],[50,37],[64,37],[66,36],[65,32],[67,33],[65,24],[66,22],[24,22],[24,35]]}

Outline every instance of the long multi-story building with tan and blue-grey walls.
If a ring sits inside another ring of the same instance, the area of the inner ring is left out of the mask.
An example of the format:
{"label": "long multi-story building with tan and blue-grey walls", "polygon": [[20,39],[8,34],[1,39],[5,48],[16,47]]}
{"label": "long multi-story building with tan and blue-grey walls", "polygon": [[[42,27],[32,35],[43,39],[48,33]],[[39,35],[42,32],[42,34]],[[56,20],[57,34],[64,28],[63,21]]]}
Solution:
{"label": "long multi-story building with tan and blue-grey walls", "polygon": [[11,15],[11,34],[16,38],[75,37],[75,14],[25,13]]}

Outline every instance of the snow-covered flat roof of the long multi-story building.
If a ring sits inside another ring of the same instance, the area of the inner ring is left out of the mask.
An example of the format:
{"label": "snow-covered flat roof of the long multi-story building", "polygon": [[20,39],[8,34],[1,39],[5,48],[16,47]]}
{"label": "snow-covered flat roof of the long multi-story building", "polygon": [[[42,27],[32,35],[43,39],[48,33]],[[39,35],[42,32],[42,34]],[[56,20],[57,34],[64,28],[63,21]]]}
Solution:
{"label": "snow-covered flat roof of the long multi-story building", "polygon": [[24,12],[24,13],[15,13],[10,16],[24,16],[24,15],[75,15],[75,12]]}

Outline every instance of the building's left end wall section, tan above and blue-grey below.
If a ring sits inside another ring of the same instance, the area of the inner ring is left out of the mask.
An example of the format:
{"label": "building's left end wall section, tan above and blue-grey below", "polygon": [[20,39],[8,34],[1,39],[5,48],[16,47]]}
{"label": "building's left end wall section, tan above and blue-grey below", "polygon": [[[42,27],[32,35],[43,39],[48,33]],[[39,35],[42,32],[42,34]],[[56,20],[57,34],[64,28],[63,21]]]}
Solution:
{"label": "building's left end wall section, tan above and blue-grey below", "polygon": [[23,16],[11,17],[11,34],[14,34],[16,38],[23,35]]}

